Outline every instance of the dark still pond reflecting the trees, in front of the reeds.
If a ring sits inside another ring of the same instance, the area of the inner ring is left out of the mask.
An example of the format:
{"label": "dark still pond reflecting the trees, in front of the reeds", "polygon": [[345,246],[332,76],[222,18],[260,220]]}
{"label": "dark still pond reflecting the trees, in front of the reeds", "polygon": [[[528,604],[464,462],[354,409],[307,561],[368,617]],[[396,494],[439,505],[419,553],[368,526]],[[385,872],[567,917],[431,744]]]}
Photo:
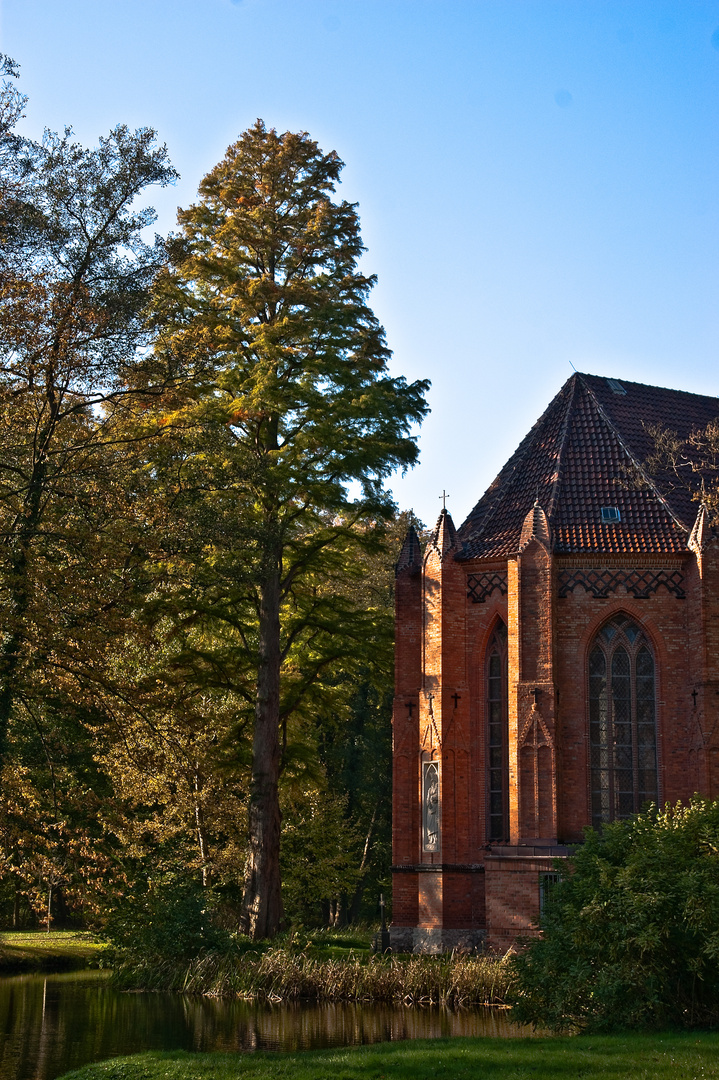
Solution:
{"label": "dark still pond reflecting the trees, in front of the reeds", "polygon": [[143,1050],[311,1050],[449,1035],[528,1035],[502,1010],[268,1005],[121,994],[106,972],[0,978],[0,1080],[53,1080]]}

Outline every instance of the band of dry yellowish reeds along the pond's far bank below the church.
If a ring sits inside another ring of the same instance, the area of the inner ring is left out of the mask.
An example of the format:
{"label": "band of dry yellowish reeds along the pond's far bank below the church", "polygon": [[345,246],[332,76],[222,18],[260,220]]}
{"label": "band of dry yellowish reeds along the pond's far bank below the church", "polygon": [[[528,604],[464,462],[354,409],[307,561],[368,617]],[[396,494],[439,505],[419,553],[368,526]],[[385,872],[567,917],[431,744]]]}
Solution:
{"label": "band of dry yellowish reeds along the pond's far bank below the church", "polygon": [[208,953],[189,963],[134,962],[116,970],[122,989],[175,990],[270,1002],[377,1001],[452,1008],[505,1004],[513,982],[507,958],[372,957],[316,959],[270,948],[232,956]]}

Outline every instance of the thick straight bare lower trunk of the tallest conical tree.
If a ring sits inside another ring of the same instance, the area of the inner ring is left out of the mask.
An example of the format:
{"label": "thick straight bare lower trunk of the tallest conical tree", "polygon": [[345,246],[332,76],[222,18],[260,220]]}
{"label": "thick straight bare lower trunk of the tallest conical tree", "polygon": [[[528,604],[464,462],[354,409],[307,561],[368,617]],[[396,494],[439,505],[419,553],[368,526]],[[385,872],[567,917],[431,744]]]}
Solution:
{"label": "thick straight bare lower trunk of the tallest conical tree", "polygon": [[244,929],[255,941],[272,937],[282,922],[280,885],[280,572],[262,585],[259,664],[245,868]]}

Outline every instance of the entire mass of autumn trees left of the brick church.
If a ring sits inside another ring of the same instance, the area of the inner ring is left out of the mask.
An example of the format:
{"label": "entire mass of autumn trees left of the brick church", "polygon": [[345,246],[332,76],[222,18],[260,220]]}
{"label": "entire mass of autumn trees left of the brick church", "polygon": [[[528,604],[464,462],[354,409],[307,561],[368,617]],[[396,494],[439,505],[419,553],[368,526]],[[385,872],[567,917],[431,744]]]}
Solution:
{"label": "entire mass of autumn trees left of the brick church", "polygon": [[389,372],[342,162],[258,120],[148,239],[154,132],[23,138],[2,73],[4,919],[188,888],[253,937],[357,917],[428,383]]}

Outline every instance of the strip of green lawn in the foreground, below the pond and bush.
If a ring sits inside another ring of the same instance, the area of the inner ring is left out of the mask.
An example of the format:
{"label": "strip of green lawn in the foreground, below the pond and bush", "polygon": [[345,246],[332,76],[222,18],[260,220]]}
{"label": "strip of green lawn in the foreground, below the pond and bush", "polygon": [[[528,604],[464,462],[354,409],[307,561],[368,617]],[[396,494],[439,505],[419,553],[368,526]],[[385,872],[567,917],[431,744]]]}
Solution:
{"label": "strip of green lawn in the foreground, below the pond and bush", "polygon": [[719,1032],[434,1039],[295,1054],[148,1053],[65,1080],[708,1080]]}

